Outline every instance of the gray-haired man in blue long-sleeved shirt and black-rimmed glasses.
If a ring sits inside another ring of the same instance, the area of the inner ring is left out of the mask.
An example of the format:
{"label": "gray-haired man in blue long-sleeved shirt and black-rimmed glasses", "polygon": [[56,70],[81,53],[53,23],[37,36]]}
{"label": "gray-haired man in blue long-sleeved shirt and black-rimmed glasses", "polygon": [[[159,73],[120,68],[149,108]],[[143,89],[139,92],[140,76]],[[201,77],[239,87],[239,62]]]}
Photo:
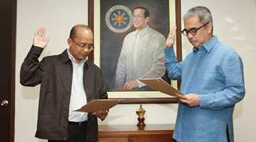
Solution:
{"label": "gray-haired man in blue long-sleeved shirt and black-rimmed glasses", "polygon": [[245,96],[242,60],[213,35],[213,18],[204,6],[189,9],[181,31],[193,45],[176,61],[176,27],[166,40],[165,64],[171,80],[181,80],[174,139],[178,142],[234,141],[233,111]]}

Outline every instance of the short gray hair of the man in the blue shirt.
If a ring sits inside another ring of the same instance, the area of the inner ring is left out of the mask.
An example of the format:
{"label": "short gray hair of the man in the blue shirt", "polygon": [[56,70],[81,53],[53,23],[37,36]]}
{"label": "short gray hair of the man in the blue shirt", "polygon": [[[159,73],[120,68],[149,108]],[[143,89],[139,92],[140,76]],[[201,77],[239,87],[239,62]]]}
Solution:
{"label": "short gray hair of the man in the blue shirt", "polygon": [[189,9],[183,16],[183,21],[186,18],[198,16],[200,23],[213,23],[213,16],[210,13],[210,10],[205,6],[196,6]]}

